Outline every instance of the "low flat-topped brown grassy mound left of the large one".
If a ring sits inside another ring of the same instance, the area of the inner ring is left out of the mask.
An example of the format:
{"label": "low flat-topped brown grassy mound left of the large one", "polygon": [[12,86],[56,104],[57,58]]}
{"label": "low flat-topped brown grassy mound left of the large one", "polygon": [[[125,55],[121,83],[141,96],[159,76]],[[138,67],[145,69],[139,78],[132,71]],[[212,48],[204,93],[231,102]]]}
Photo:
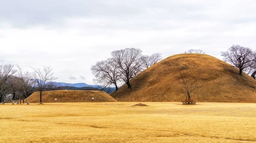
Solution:
{"label": "low flat-topped brown grassy mound left of the large one", "polygon": [[[94,98],[94,99],[93,99]],[[55,90],[42,93],[43,103],[68,103],[68,102],[115,102],[116,99],[104,91],[88,90]],[[35,92],[25,99],[25,102],[39,103],[40,93]]]}

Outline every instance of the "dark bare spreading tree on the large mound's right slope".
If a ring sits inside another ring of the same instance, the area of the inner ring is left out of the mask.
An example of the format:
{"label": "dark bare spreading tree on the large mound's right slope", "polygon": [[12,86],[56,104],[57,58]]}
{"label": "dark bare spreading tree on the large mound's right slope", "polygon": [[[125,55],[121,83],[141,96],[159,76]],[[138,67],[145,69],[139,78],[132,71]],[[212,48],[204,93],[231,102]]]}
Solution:
{"label": "dark bare spreading tree on the large mound's right slope", "polygon": [[230,62],[235,67],[239,68],[239,75],[242,75],[243,70],[247,70],[253,64],[253,51],[251,48],[233,45],[226,52],[221,52],[225,62]]}

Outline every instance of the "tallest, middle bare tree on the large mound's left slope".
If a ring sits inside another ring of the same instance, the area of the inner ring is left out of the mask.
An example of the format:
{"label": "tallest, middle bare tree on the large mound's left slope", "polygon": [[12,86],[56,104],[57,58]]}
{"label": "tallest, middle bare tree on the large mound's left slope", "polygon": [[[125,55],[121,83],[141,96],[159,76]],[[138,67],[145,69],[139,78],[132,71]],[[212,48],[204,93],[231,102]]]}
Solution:
{"label": "tallest, middle bare tree on the large mound's left slope", "polygon": [[111,52],[113,61],[118,65],[117,70],[120,78],[131,88],[130,79],[141,71],[140,58],[142,50],[136,48],[125,48]]}

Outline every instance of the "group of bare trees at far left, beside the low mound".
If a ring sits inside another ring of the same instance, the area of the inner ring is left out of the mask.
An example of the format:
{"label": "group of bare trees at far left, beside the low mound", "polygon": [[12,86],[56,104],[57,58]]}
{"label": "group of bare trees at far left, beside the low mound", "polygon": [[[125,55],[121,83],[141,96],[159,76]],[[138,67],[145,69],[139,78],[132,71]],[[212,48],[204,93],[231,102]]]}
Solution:
{"label": "group of bare trees at far left, beside the low mound", "polygon": [[42,93],[48,83],[55,79],[51,67],[44,67],[43,70],[33,69],[34,72],[30,73],[12,64],[0,65],[0,102],[7,96],[12,96],[12,100],[24,102],[24,99],[35,91]]}

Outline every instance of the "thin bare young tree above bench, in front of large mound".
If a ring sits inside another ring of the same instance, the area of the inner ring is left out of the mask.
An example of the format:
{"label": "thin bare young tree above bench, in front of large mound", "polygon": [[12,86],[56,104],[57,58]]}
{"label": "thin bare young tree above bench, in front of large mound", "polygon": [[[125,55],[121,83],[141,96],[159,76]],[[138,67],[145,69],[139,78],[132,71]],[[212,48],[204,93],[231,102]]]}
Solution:
{"label": "thin bare young tree above bench, in front of large mound", "polygon": [[189,73],[181,73],[180,71],[180,77],[178,78],[178,82],[180,86],[185,90],[186,92],[186,100],[190,100],[190,95],[192,91],[196,90],[197,87],[197,79],[190,76]]}

